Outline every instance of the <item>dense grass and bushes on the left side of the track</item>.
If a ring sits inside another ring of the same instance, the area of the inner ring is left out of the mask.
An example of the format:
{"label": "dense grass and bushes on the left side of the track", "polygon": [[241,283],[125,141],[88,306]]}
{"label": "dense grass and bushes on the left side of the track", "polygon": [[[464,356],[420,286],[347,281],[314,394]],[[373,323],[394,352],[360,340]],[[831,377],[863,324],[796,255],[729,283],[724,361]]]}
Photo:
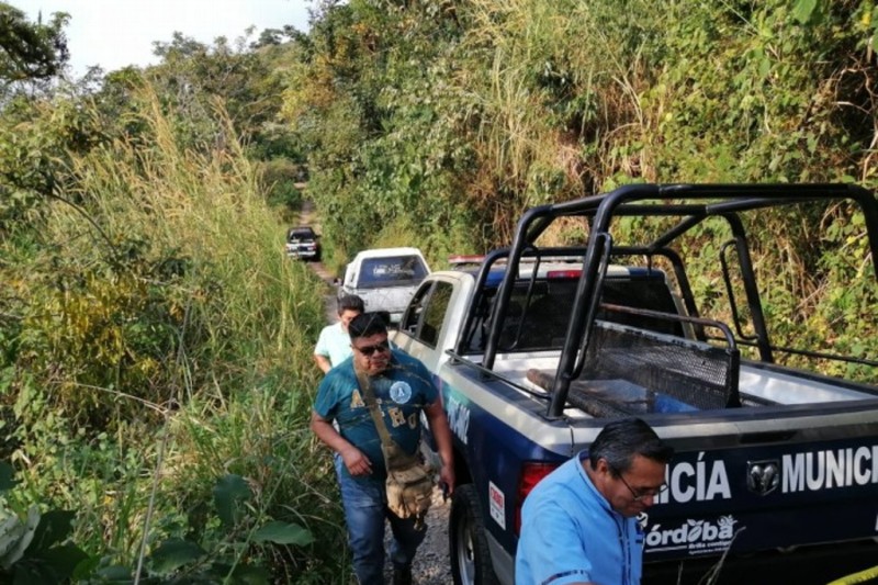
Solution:
{"label": "dense grass and bushes on the left side of the track", "polygon": [[344,583],[307,428],[323,284],[283,256],[256,168],[297,157],[274,81],[223,42],[159,48],[149,71],[7,86],[0,581]]}

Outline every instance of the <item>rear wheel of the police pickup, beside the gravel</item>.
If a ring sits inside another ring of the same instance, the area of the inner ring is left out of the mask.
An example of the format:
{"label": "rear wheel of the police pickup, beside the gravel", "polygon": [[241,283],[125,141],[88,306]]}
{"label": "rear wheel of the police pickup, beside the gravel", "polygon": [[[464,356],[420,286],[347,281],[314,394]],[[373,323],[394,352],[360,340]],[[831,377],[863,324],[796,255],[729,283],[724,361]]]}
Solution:
{"label": "rear wheel of the police pickup, beside the gravel", "polygon": [[451,576],[454,585],[497,585],[485,538],[485,521],[472,484],[454,490],[448,528]]}

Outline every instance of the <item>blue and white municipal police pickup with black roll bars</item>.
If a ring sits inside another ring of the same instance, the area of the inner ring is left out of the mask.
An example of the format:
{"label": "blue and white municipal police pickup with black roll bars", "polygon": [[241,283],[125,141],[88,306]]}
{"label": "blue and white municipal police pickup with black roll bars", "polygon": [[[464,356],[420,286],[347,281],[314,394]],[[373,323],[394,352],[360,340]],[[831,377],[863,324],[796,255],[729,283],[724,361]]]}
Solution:
{"label": "blue and white municipal police pickup with black roll bars", "polygon": [[[809,246],[846,226],[849,286],[823,291],[811,248],[800,282],[772,213],[797,214]],[[563,234],[581,246],[543,244]],[[858,187],[640,184],[531,209],[510,247],[430,274],[393,341],[434,374],[454,435],[454,583],[514,583],[529,491],[623,416],[676,449],[641,518],[644,583],[877,564],[876,265],[878,202]],[[859,307],[859,342],[836,347],[845,323],[814,335],[821,295]]]}

